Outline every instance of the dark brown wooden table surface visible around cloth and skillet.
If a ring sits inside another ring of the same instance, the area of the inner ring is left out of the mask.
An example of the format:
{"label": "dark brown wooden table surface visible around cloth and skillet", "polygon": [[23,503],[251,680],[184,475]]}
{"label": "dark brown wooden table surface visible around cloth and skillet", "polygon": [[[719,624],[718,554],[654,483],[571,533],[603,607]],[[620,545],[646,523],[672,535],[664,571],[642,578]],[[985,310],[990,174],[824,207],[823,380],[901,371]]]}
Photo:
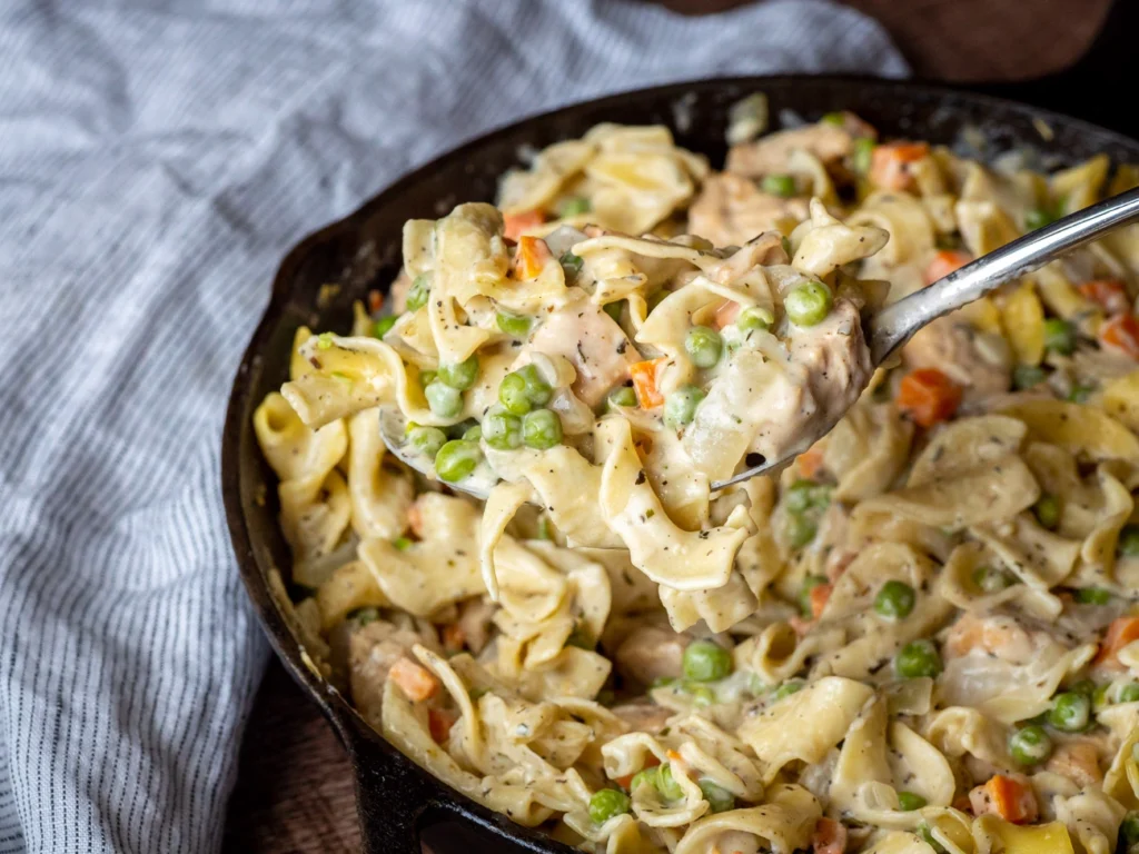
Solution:
{"label": "dark brown wooden table surface visible around cloth and skillet", "polygon": [[[739,0],[665,2],[686,14],[739,5]],[[1031,79],[1067,66],[1091,42],[1108,0],[852,0],[850,5],[886,26],[919,76],[984,81]],[[360,851],[344,750],[276,659],[246,730],[224,851]]]}

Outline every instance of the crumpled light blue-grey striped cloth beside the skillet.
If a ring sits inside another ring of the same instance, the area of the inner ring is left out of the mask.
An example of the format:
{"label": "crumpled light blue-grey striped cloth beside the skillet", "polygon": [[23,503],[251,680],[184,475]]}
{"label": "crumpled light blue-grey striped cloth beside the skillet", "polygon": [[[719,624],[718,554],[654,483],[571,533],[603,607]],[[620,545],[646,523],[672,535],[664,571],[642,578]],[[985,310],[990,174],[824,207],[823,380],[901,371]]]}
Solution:
{"label": "crumpled light blue-grey striped cloth beside the skillet", "polygon": [[219,490],[290,244],[516,116],[907,72],[823,0],[118,0],[0,11],[0,852],[220,847],[268,648]]}

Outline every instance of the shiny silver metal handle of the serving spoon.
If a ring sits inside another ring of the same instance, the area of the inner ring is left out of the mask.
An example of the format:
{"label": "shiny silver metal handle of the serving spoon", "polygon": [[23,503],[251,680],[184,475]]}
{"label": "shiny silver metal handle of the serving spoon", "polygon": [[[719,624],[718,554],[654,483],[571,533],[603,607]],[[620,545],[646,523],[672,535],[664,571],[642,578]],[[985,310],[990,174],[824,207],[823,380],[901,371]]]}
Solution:
{"label": "shiny silver metal handle of the serving spoon", "polygon": [[1055,261],[1065,252],[1137,220],[1139,188],[1017,238],[929,287],[887,305],[869,322],[872,363],[880,364],[918,329],[942,314],[980,299],[1005,282]]}

